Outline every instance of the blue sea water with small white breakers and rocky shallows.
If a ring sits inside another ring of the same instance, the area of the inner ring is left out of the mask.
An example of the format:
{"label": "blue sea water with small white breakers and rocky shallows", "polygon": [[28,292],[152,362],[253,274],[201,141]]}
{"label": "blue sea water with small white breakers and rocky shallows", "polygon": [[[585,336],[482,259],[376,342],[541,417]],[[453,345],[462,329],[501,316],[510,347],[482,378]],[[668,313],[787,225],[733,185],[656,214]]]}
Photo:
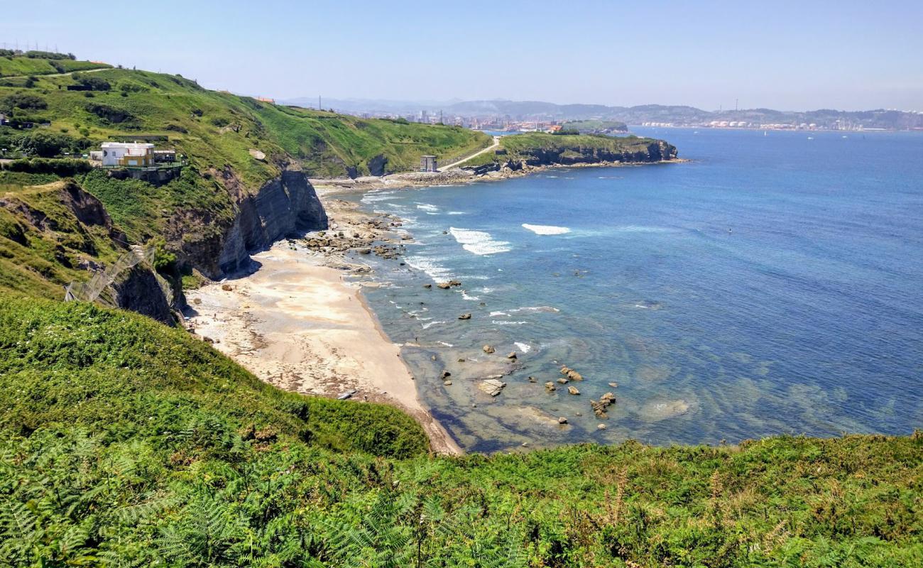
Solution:
{"label": "blue sea water with small white breakers and rocky shallows", "polygon": [[923,133],[638,133],[691,162],[354,198],[415,238],[366,297],[462,447],[923,427]]}

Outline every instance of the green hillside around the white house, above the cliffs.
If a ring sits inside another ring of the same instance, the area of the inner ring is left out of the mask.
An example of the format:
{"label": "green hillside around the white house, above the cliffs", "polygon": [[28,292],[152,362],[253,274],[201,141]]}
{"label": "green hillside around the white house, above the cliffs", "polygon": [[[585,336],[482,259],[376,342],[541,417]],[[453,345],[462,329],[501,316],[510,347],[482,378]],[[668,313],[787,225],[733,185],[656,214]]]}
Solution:
{"label": "green hillside around the white house, above the cliffs", "polygon": [[[413,170],[422,154],[457,159],[491,141],[460,127],[263,103],[174,75],[119,68],[42,75],[41,66],[90,62],[0,56],[0,72],[32,74],[0,79],[0,113],[10,121],[0,127],[0,158],[13,160],[0,163],[0,290],[60,297],[68,282],[89,278],[87,267],[111,261],[110,251],[156,239],[188,274],[222,247],[236,203],[283,170],[320,177]],[[108,139],[148,138],[185,157],[182,175],[155,187],[72,160]],[[56,189],[46,187],[64,178],[100,199],[113,225],[107,231],[120,239],[96,235],[84,246],[86,234],[100,231],[56,207]]]}

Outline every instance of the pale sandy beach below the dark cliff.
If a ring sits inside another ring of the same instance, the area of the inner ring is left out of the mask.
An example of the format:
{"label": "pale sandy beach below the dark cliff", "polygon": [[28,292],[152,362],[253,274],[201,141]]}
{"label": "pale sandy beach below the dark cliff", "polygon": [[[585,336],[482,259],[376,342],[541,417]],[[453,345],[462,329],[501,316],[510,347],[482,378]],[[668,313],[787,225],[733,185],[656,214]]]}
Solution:
{"label": "pale sandy beach below the dark cliff", "polygon": [[[262,267],[245,278],[208,284],[186,296],[198,315],[187,326],[262,381],[297,393],[402,408],[426,429],[435,452],[462,449],[420,402],[401,349],[378,327],[359,286],[343,271],[287,241],[253,255]],[[199,303],[197,303],[199,302]]]}

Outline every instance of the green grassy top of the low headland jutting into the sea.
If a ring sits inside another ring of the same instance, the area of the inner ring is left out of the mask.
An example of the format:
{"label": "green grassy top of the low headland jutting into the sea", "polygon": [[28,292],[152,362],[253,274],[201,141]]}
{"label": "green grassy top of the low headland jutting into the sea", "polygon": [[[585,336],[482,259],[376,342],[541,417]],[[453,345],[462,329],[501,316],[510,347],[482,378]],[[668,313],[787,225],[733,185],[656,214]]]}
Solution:
{"label": "green grassy top of the low headland jutting into the sea", "polygon": [[535,149],[558,150],[567,148],[605,149],[610,151],[643,151],[654,139],[638,137],[611,137],[593,134],[554,135],[542,132],[527,132],[504,136],[500,139],[497,150],[506,150],[506,154],[485,152],[471,160],[462,163],[462,166],[483,165],[492,162],[505,162],[509,159],[528,157]]}

